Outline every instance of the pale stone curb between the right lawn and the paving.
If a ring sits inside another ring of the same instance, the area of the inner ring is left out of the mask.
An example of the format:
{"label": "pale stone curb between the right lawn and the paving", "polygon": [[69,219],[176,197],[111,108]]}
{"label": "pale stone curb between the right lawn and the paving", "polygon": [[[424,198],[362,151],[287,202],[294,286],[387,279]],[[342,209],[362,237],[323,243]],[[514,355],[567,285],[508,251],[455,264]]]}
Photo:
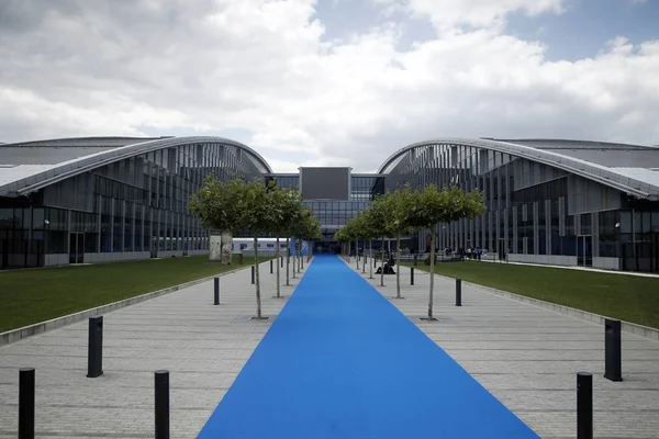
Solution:
{"label": "pale stone curb between the right lawn and the paving", "polygon": [[[423,270],[423,269],[421,269],[421,270]],[[423,270],[423,271],[425,271],[426,273],[429,273],[428,270]],[[455,278],[450,278],[450,277],[444,275],[444,274],[435,273],[435,275],[439,277],[439,278],[448,279],[451,281],[455,280]],[[555,313],[565,314],[565,315],[578,318],[580,320],[600,324],[602,326],[604,326],[604,320],[606,318],[617,319],[615,317],[606,317],[606,316],[603,316],[600,314],[591,313],[589,311],[578,309],[578,308],[573,308],[573,307],[566,306],[566,305],[559,305],[559,304],[552,303],[552,302],[540,301],[539,299],[527,297],[522,294],[511,293],[509,291],[499,290],[499,289],[495,289],[492,286],[481,285],[480,283],[468,282],[466,280],[462,280],[462,284],[469,285],[471,288],[481,290],[487,293],[496,294],[499,296],[510,299],[513,301],[523,302],[523,303],[534,305],[534,306],[539,306],[541,308],[552,311]],[[657,328],[651,328],[649,326],[644,326],[644,325],[639,325],[637,323],[632,323],[632,322],[627,322],[627,320],[621,320],[621,330],[628,333],[628,334],[634,334],[634,335],[637,335],[637,336],[640,336],[644,338],[649,338],[650,340],[659,341],[659,329],[657,329]]]}

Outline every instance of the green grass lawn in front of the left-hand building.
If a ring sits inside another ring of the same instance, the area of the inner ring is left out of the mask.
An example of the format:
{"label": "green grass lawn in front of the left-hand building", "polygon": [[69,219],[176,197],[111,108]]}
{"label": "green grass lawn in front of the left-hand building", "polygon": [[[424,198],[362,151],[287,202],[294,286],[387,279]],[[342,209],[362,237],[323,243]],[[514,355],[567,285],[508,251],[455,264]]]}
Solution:
{"label": "green grass lawn in front of the left-hand building", "polygon": [[238,266],[234,255],[234,263],[224,266],[209,262],[208,256],[192,256],[0,272],[0,333],[248,267],[253,261],[244,258]]}

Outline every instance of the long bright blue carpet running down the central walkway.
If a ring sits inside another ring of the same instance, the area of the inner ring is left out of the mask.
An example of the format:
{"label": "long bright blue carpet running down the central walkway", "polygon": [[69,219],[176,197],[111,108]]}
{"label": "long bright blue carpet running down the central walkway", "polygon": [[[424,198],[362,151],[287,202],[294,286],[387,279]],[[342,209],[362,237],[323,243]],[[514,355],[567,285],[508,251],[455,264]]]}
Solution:
{"label": "long bright blue carpet running down the central walkway", "polygon": [[537,438],[336,257],[317,257],[199,438]]}

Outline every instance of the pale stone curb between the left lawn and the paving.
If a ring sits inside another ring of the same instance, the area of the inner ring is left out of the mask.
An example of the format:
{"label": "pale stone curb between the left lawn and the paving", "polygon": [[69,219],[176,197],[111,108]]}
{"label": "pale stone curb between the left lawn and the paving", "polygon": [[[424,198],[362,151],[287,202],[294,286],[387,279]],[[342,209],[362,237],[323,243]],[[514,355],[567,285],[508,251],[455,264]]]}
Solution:
{"label": "pale stone curb between the left lawn and the paving", "polygon": [[[261,263],[266,263],[266,262],[268,262],[268,261],[260,262],[259,266]],[[189,281],[189,282],[185,282],[185,283],[179,283],[177,285],[168,286],[163,290],[152,291],[149,293],[136,295],[134,297],[123,299],[118,302],[112,302],[112,303],[108,303],[105,305],[100,305],[100,306],[97,306],[93,308],[79,311],[77,313],[67,314],[67,315],[64,315],[60,317],[55,317],[49,320],[35,323],[35,324],[23,326],[21,328],[16,328],[16,329],[10,329],[8,331],[0,333],[0,347],[5,346],[5,345],[11,345],[13,342],[16,342],[16,341],[22,340],[27,337],[32,337],[32,336],[35,336],[38,334],[43,334],[43,333],[53,330],[53,329],[57,329],[57,328],[62,328],[64,326],[71,325],[74,323],[81,322],[87,317],[93,317],[93,316],[98,316],[101,314],[110,313],[112,311],[121,309],[126,306],[134,305],[136,303],[145,302],[150,299],[160,297],[165,294],[174,293],[179,290],[194,286],[200,283],[211,281],[213,278],[232,274],[232,273],[238,272],[241,270],[246,270],[249,267],[252,267],[252,266],[243,266],[243,267],[236,268],[234,270],[222,271],[216,274],[196,279],[193,281]]]}

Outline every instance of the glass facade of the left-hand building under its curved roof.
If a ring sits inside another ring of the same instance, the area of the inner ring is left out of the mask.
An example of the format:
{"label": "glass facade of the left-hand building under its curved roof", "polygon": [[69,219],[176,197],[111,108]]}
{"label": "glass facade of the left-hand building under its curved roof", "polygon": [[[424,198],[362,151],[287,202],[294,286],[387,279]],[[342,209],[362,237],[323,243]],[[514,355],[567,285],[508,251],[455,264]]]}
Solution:
{"label": "glass facade of the left-hand building under its curved roof", "polygon": [[1,267],[204,254],[209,233],[186,209],[190,195],[211,172],[252,180],[268,171],[234,143],[154,145],[26,195],[2,196]]}

